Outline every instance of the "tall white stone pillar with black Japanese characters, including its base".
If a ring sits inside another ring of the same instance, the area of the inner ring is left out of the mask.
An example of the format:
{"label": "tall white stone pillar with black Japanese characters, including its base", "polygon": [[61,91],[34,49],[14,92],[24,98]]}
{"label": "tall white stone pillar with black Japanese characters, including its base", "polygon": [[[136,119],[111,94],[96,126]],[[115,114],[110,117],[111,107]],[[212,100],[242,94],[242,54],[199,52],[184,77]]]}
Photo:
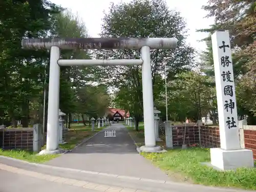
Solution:
{"label": "tall white stone pillar with black Japanese characters, including its base", "polygon": [[[237,102],[228,31],[211,35],[219,115],[220,148],[210,149],[211,165],[218,169],[253,167],[252,151],[240,147]],[[243,137],[243,136],[242,136]]]}

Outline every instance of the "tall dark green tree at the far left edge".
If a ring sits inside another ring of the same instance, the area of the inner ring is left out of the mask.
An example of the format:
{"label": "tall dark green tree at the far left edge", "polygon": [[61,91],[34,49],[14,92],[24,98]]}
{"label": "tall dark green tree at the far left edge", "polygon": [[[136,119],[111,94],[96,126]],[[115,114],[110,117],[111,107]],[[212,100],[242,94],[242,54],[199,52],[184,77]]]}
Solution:
{"label": "tall dark green tree at the far left edge", "polygon": [[[0,98],[2,111],[12,119],[22,118],[28,125],[31,98],[38,94],[41,66],[38,57],[46,52],[23,50],[21,40],[38,37],[49,29],[49,15],[56,6],[48,1],[0,2]],[[39,53],[39,54],[38,54]]]}

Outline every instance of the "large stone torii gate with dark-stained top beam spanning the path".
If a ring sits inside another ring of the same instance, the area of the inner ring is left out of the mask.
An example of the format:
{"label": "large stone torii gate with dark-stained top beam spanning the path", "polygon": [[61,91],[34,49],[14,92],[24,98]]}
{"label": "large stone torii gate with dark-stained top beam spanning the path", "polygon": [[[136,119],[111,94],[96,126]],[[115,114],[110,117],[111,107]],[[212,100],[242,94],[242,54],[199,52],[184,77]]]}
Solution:
{"label": "large stone torii gate with dark-stained top beam spanning the path", "polygon": [[[176,38],[53,38],[23,39],[24,49],[50,49],[49,100],[46,150],[58,154],[58,110],[60,66],[142,66],[145,145],[143,152],[161,151],[156,146],[150,49],[175,49]],[[141,59],[60,59],[60,49],[141,49]]]}

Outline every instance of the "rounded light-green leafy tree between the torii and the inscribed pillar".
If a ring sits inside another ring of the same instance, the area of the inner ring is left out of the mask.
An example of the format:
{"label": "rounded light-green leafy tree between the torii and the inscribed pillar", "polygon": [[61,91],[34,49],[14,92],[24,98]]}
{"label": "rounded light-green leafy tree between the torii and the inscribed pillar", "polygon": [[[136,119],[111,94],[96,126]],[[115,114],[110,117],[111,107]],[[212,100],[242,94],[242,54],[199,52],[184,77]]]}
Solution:
{"label": "rounded light-green leafy tree between the torii and the inscribed pillar", "polygon": [[[199,72],[183,72],[167,84],[168,115],[174,121],[185,118],[197,121],[208,113],[216,116],[217,102],[212,79]],[[158,109],[165,118],[165,94],[158,100]]]}

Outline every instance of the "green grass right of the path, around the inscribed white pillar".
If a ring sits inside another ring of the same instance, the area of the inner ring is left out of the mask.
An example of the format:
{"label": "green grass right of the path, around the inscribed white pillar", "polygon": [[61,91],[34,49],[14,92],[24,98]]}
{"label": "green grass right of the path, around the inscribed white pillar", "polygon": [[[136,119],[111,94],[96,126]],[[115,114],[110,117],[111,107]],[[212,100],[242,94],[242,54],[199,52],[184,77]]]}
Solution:
{"label": "green grass right of the path, around the inscribed white pillar", "polygon": [[[133,130],[133,127],[127,129],[137,145],[144,144],[143,124],[139,126],[139,131]],[[157,145],[164,147],[164,142],[157,142]],[[220,172],[201,164],[210,162],[209,148],[193,147],[187,150],[168,150],[163,154],[141,153],[141,155],[151,160],[176,181],[256,190],[256,168]]]}

